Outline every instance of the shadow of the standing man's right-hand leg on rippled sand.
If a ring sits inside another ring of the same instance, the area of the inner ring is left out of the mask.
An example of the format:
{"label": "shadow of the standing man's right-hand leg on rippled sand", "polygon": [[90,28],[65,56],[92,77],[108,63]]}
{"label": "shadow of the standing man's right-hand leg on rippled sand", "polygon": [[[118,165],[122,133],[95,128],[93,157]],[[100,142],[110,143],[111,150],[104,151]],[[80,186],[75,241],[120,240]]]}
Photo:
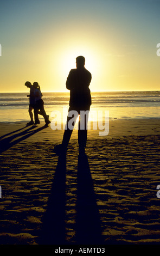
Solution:
{"label": "shadow of the standing man's right-hand leg on rippled sand", "polygon": [[103,244],[101,223],[87,156],[78,158],[76,244]]}

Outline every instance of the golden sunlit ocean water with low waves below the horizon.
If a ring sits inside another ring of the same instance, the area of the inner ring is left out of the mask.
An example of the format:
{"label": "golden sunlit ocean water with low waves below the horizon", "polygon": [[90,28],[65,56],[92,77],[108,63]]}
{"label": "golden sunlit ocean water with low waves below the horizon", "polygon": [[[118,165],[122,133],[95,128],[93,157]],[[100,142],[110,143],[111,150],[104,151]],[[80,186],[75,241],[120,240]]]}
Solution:
{"label": "golden sunlit ocean water with low waves below the horizon", "polygon": [[[0,94],[0,121],[28,121],[27,93]],[[160,91],[150,92],[91,92],[91,113],[108,111],[111,119],[160,118]],[[43,93],[44,109],[50,120],[60,111],[66,120],[69,93]],[[93,115],[92,115],[93,116]],[[39,116],[40,119],[43,119]],[[93,117],[92,117],[93,118]],[[65,122],[65,121],[64,121]]]}

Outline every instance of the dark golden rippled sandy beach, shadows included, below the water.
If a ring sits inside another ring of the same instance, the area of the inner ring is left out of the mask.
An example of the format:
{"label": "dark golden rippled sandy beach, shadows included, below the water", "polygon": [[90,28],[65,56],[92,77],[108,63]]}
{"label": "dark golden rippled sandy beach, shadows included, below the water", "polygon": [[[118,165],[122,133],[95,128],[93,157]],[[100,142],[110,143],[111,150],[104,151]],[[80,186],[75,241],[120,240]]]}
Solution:
{"label": "dark golden rippled sandy beach, shadows included, below the water", "polygon": [[158,244],[159,119],[110,120],[88,131],[86,156],[73,131],[1,123],[1,245]]}

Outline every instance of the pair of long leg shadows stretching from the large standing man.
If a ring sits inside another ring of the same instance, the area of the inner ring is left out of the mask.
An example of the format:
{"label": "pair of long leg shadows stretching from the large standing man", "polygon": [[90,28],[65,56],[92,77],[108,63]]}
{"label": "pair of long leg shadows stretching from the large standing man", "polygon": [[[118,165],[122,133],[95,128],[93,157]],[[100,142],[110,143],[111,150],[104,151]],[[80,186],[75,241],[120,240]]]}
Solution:
{"label": "pair of long leg shadows stretching from the large standing man", "polygon": [[[76,245],[103,244],[101,223],[95,199],[87,156],[78,159],[78,198],[76,204]],[[67,245],[66,241],[66,155],[59,156],[42,229],[38,239],[41,245]]]}

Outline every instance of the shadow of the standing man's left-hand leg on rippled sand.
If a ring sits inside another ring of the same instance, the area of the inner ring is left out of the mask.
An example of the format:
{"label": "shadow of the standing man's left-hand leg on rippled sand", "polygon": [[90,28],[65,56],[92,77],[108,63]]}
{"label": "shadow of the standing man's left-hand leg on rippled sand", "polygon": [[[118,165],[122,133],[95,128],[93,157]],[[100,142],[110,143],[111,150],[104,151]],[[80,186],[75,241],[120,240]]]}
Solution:
{"label": "shadow of the standing man's left-hand leg on rippled sand", "polygon": [[39,244],[65,244],[66,155],[59,156],[47,210],[42,217]]}

